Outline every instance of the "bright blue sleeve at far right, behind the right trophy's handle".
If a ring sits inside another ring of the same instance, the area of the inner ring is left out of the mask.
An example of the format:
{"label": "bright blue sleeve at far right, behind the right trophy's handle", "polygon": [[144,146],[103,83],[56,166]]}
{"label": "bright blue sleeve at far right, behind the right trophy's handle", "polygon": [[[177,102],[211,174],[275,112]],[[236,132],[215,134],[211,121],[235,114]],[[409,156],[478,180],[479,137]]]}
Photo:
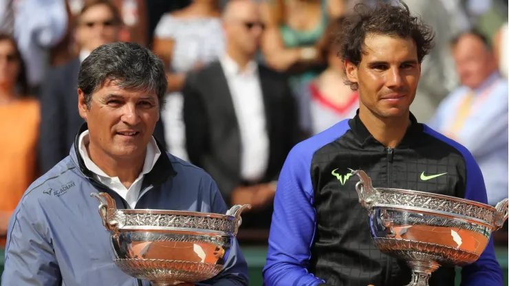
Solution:
{"label": "bright blue sleeve at far right, behind the right trophy's handle", "polygon": [[[467,176],[465,199],[488,203],[486,186],[479,165],[468,151],[464,153],[464,157]],[[462,286],[477,285],[503,285],[502,272],[495,256],[492,238],[479,259],[462,269]]]}

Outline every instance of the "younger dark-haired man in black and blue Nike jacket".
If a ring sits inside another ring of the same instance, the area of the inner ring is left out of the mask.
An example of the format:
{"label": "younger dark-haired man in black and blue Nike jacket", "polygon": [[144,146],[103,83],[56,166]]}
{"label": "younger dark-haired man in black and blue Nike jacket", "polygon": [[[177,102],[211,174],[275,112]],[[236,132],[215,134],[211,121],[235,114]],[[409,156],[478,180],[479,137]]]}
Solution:
{"label": "younger dark-haired man in black and blue Nike jacket", "polygon": [[[373,186],[486,203],[481,171],[468,150],[418,123],[409,111],[420,64],[433,47],[431,30],[404,4],[359,5],[339,39],[359,110],[288,155],[274,201],[263,270],[267,286],[410,283],[404,261],[373,244],[367,210],[355,190],[358,178],[347,176],[351,169],[364,170]],[[411,237],[413,231],[398,234]],[[449,243],[455,239],[451,232],[429,235]],[[424,283],[417,282],[412,285]],[[432,286],[454,283],[455,269],[444,266],[429,281]],[[464,267],[462,285],[502,285],[492,241],[477,262]]]}

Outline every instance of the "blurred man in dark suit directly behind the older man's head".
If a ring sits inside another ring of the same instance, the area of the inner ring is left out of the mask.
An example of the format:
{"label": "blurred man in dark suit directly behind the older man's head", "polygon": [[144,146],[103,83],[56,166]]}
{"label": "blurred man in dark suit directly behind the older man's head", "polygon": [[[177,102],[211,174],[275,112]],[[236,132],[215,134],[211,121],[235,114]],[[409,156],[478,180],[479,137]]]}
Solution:
{"label": "blurred man in dark suit directly behind the older man's head", "polygon": [[[87,2],[76,17],[74,36],[80,47],[79,55],[47,70],[40,94],[39,165],[42,173],[69,155],[69,146],[74,143],[76,130],[83,124],[83,118],[78,113],[77,93],[81,62],[96,47],[118,41],[121,28],[120,12],[111,1]],[[157,126],[154,133],[160,141],[164,140],[162,130],[161,126]]]}

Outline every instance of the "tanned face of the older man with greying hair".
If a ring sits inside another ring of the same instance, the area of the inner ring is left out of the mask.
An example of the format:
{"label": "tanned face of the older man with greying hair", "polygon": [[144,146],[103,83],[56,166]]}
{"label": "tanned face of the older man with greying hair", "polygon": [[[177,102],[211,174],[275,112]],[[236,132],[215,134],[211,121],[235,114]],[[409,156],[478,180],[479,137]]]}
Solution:
{"label": "tanned face of the older man with greying hair", "polygon": [[159,120],[158,96],[146,91],[120,89],[107,82],[92,95],[90,108],[78,89],[80,115],[87,120],[90,144],[108,157],[144,156]]}

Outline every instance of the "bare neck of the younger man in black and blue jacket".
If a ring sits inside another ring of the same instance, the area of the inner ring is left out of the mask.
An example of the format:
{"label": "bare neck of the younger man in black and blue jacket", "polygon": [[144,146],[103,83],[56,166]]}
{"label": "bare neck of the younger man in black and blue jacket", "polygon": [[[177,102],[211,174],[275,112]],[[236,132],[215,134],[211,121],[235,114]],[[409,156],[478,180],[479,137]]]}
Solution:
{"label": "bare neck of the younger man in black and blue jacket", "polygon": [[364,106],[359,107],[359,118],[367,131],[386,147],[395,148],[410,124],[410,111],[398,118],[380,118]]}

